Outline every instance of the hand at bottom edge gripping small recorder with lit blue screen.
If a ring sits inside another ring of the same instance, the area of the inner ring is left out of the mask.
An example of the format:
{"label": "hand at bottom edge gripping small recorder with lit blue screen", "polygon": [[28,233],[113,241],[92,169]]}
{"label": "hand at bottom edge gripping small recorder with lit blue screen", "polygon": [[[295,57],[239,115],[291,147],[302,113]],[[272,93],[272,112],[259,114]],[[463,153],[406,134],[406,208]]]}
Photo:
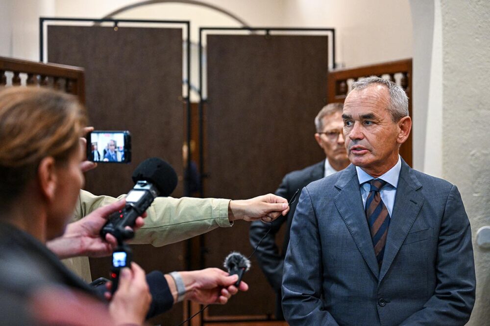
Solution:
{"label": "hand at bottom edge gripping small recorder with lit blue screen", "polygon": [[143,325],[150,304],[145,271],[132,262],[131,269],[123,268],[119,274],[118,289],[109,304],[109,313],[118,325]]}

